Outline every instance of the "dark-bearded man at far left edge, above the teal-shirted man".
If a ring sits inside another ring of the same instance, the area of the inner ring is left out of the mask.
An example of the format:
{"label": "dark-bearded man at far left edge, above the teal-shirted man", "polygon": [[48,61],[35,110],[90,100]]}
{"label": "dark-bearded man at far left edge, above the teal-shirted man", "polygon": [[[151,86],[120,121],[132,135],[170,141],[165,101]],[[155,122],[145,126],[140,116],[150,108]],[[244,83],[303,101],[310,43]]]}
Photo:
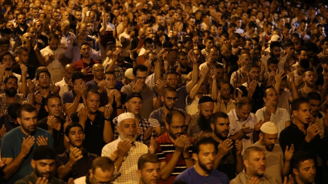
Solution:
{"label": "dark-bearded man at far left edge, above the teal-shirted man", "polygon": [[17,94],[18,79],[16,76],[8,76],[5,79],[5,93],[0,95],[0,116],[7,114],[10,103],[23,103],[24,95]]}

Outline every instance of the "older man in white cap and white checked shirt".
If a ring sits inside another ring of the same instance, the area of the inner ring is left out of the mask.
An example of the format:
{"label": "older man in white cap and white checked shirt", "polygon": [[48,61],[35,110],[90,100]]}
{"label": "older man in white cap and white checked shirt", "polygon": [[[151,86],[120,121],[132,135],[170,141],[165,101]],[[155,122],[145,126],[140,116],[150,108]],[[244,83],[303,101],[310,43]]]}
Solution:
{"label": "older man in white cap and white checked shirt", "polygon": [[148,147],[135,141],[137,137],[137,126],[134,114],[131,112],[121,113],[117,117],[117,140],[104,146],[101,156],[112,156],[115,158],[116,171],[121,173],[117,178],[118,183],[139,183],[137,175],[138,158],[148,153]]}

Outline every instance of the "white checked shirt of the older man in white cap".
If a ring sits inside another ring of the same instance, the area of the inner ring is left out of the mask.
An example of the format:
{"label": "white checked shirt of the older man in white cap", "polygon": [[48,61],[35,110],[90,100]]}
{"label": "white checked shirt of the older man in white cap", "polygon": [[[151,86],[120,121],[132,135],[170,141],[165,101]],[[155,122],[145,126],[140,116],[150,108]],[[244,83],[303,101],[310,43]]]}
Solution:
{"label": "white checked shirt of the older man in white cap", "polygon": [[[117,145],[122,140],[118,137],[117,140],[104,146],[101,156],[110,156],[117,148]],[[145,144],[134,142],[130,148],[127,156],[124,157],[124,161],[120,169],[117,171],[121,175],[117,178],[118,183],[139,183],[139,177],[137,175],[138,170],[138,159],[141,155],[148,153],[148,147]],[[116,168],[116,166],[115,166]],[[117,170],[117,169],[116,169]]]}

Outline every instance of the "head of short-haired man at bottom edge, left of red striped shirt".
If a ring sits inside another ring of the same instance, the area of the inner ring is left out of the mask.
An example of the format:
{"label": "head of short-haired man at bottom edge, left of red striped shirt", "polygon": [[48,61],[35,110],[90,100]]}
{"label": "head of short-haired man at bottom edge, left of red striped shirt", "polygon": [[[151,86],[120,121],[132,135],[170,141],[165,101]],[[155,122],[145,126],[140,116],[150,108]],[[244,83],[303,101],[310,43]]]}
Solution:
{"label": "head of short-haired man at bottom edge, left of red striped shirt", "polygon": [[156,155],[147,153],[138,159],[139,184],[157,184],[159,181],[160,162]]}

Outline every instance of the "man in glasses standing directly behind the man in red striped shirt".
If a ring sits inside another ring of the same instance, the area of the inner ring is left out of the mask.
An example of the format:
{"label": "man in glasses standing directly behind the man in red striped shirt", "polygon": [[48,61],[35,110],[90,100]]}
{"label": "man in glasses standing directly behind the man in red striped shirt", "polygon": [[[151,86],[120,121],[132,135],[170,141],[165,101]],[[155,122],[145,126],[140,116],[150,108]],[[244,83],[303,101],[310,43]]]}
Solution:
{"label": "man in glasses standing directly behind the man in red striped shirt", "polygon": [[155,130],[156,136],[165,133],[167,130],[165,128],[165,121],[163,121],[163,116],[173,109],[180,110],[185,117],[187,117],[187,112],[182,109],[175,108],[176,101],[178,100],[176,89],[171,86],[167,86],[162,91],[162,96],[160,100],[163,102],[163,106],[157,110],[154,110],[149,116],[149,123]]}

